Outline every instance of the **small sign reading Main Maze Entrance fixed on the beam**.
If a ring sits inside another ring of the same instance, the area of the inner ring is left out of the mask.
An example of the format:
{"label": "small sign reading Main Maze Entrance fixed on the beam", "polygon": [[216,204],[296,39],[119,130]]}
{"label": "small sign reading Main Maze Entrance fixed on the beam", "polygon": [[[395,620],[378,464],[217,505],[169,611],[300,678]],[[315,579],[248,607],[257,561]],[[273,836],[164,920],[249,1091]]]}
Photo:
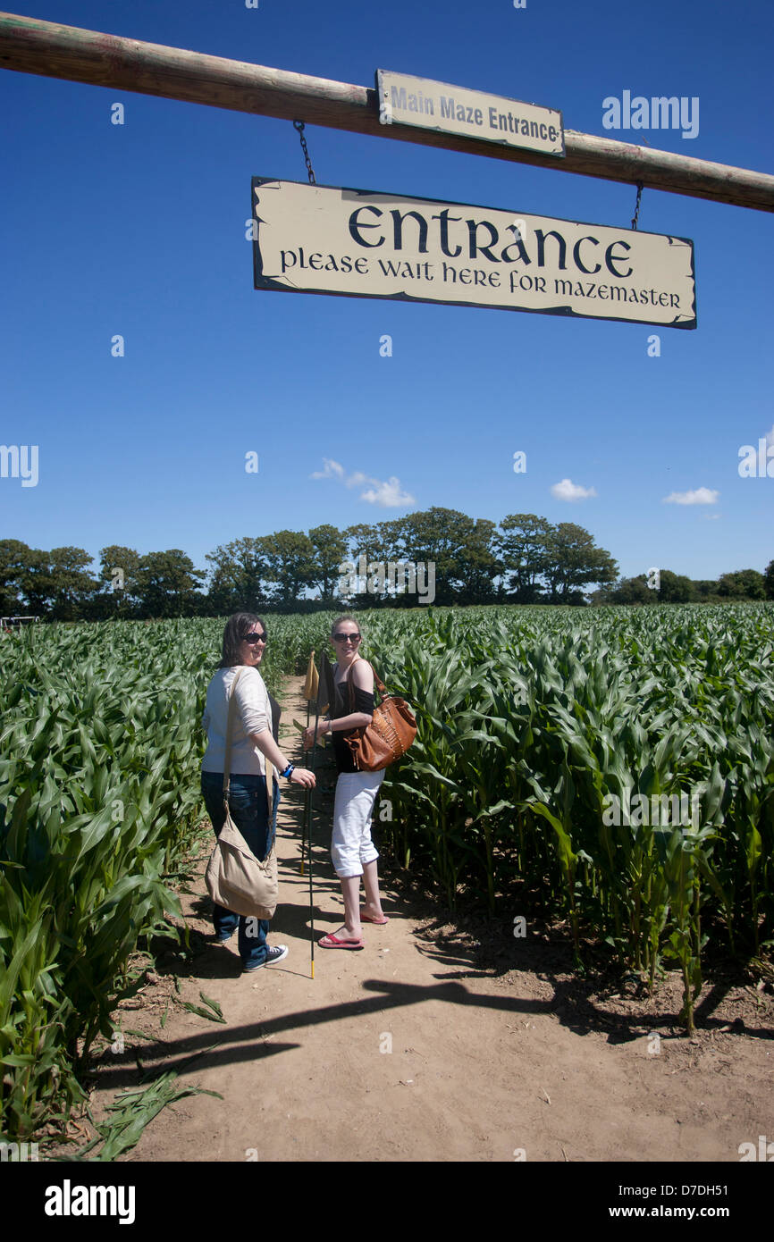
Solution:
{"label": "small sign reading Main Maze Entrance fixed on the beam", "polygon": [[376,70],[383,125],[420,125],[544,155],[564,155],[562,113],[502,94]]}

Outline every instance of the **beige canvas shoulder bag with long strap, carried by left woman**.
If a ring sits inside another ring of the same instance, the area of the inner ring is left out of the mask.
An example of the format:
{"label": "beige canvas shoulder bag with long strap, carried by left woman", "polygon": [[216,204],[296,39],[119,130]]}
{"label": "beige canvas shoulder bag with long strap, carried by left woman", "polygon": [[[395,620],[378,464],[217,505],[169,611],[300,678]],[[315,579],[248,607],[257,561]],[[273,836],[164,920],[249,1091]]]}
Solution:
{"label": "beige canvas shoulder bag with long strap, carried by left woman", "polygon": [[[231,734],[236,717],[236,698],[234,692],[244,668],[231,683],[229,694],[229,720],[226,724],[226,753],[224,758],[224,809],[226,821],[220,830],[217,842],[205,873],[207,892],[217,905],[234,914],[252,915],[257,919],[271,919],[277,908],[280,884],[277,879],[277,854],[272,837],[268,857],[256,858],[245,837],[231,818],[229,810],[229,790],[231,784]],[[271,705],[268,708],[271,723]],[[271,728],[270,728],[271,732]],[[273,766],[266,759],[266,796],[268,802],[268,821],[273,810]]]}

